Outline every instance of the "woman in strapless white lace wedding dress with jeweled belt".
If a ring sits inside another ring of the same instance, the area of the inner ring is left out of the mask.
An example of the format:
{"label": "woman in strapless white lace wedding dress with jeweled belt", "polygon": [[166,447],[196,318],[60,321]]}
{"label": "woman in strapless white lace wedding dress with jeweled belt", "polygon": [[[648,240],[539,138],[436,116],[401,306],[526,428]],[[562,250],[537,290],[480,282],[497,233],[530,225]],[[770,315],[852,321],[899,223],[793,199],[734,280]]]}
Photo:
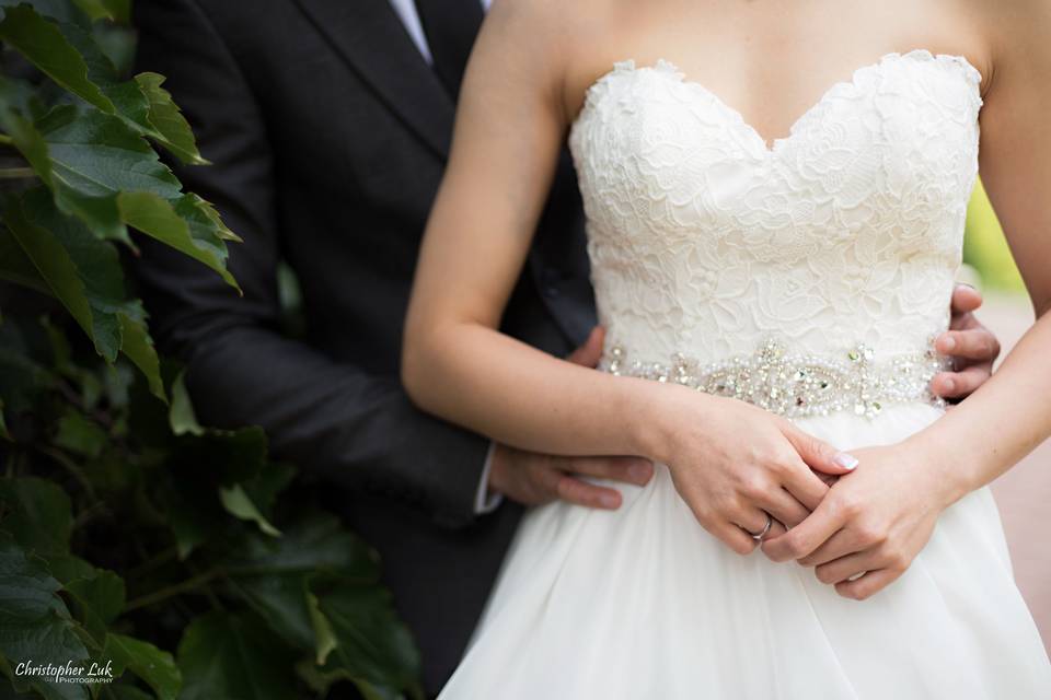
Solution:
{"label": "woman in strapless white lace wedding dress with jeweled belt", "polygon": [[[988,488],[1051,434],[1049,35],[1038,0],[495,4],[406,387],[657,468],[526,517],[442,698],[1051,698]],[[495,330],[567,135],[602,372]],[[1038,320],[945,411],[979,161]]]}

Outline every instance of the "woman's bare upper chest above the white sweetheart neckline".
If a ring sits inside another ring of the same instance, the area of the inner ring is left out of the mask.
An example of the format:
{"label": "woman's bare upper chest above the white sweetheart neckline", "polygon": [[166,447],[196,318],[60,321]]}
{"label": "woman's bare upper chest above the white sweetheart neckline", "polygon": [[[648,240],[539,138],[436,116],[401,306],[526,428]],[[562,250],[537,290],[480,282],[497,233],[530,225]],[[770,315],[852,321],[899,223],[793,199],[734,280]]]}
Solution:
{"label": "woman's bare upper chest above the white sweetheart neckline", "polygon": [[587,34],[599,38],[585,38],[566,54],[567,115],[579,114],[588,90],[614,65],[668,62],[685,82],[739,113],[769,143],[787,137],[792,125],[834,85],[889,54],[958,56],[983,77],[990,72],[982,30],[934,1],[888,0],[875,10],[851,0],[807,9],[777,0],[657,0],[642,9],[623,0],[585,4],[607,12],[602,31]]}

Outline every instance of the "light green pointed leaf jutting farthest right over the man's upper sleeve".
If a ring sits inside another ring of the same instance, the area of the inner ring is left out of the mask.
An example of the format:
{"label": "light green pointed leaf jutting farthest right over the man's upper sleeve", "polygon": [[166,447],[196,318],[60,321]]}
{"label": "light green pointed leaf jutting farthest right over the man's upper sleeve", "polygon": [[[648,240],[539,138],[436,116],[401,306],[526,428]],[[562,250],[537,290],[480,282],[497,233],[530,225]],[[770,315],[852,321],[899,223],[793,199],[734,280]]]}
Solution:
{"label": "light green pointed leaf jutting farthest right over the man's upper sleeve", "polygon": [[204,262],[239,292],[236,280],[227,270],[227,246],[206,210],[204,200],[185,195],[174,203],[153,192],[122,192],[117,196],[123,220],[142,233]]}

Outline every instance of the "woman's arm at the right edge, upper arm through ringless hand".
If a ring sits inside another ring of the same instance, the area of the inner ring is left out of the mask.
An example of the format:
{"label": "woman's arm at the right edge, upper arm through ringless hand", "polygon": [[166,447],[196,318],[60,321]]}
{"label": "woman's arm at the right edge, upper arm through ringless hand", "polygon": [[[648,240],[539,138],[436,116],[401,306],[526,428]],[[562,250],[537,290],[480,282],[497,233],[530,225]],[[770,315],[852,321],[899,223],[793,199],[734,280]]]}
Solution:
{"label": "woman's arm at the right edge, upper arm through ringless hand", "polygon": [[[905,442],[855,452],[862,468],[763,546],[775,560],[817,565],[848,597],[897,579],[943,510],[1051,436],[1051,5],[1002,9],[990,19],[995,70],[985,75],[980,170],[1037,320],[989,382]],[[847,580],[861,571],[869,573]]]}

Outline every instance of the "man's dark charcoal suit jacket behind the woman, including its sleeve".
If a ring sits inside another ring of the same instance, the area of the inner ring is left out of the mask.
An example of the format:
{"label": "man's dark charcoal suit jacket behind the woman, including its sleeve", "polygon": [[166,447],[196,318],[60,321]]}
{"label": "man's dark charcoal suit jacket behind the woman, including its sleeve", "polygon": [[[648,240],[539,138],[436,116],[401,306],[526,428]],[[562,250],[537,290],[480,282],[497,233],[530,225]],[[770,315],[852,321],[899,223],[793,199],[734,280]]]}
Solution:
{"label": "man's dark charcoal suit jacket behind the woman, including its sleeve", "polygon": [[[177,175],[244,238],[230,254],[243,298],[143,243],[137,272],[153,331],[187,363],[204,420],[263,425],[278,457],[338,487],[348,524],[382,556],[436,690],[520,514],[505,503],[475,515],[488,441],[419,412],[399,383],[403,315],[454,101],[388,0],[135,9],[139,70],[168,75],[213,162]],[[581,215],[564,156],[504,318],[506,331],[557,354],[594,323]],[[279,330],[282,260],[302,288],[300,339]]]}

